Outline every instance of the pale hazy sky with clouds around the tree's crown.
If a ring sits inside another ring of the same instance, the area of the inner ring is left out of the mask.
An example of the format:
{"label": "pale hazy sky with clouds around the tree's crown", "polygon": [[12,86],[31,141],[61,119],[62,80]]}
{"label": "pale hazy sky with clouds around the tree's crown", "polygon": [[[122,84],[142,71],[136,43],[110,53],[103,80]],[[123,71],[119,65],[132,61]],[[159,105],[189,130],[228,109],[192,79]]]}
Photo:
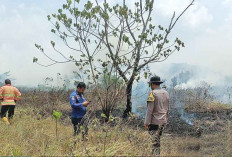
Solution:
{"label": "pale hazy sky with clouds around the tree's crown", "polygon": [[[117,3],[121,0],[110,1]],[[35,86],[44,78],[71,75],[78,70],[73,64],[59,64],[44,68],[33,64],[33,57],[48,64],[34,46],[42,45],[52,55],[50,41],[52,25],[47,15],[57,12],[64,0],[0,0],[0,74],[10,71],[15,85]],[[190,0],[155,0],[153,20],[155,24],[167,25],[172,14],[180,13]],[[128,5],[134,3],[130,0]],[[197,65],[211,71],[207,78],[214,82],[232,76],[232,0],[196,0],[172,31],[185,48],[171,55],[163,63],[150,65],[151,71],[165,76],[164,68],[173,63]],[[59,48],[69,51],[62,44]],[[59,59],[59,58],[57,58]]]}

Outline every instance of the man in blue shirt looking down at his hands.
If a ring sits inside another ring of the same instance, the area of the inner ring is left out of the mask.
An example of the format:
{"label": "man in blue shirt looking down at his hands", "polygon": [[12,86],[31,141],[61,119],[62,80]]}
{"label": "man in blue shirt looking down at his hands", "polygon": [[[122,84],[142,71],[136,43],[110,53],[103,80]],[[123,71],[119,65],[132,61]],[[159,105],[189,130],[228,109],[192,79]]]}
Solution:
{"label": "man in blue shirt looking down at his hands", "polygon": [[[86,85],[84,82],[80,82],[77,85],[77,90],[75,90],[69,97],[69,102],[72,107],[72,124],[74,127],[74,136],[80,133],[80,126],[83,126],[85,132],[87,134],[88,128],[84,126],[85,120],[84,115],[86,114],[86,107],[89,105],[89,101],[83,96]],[[83,134],[83,136],[84,136]]]}

